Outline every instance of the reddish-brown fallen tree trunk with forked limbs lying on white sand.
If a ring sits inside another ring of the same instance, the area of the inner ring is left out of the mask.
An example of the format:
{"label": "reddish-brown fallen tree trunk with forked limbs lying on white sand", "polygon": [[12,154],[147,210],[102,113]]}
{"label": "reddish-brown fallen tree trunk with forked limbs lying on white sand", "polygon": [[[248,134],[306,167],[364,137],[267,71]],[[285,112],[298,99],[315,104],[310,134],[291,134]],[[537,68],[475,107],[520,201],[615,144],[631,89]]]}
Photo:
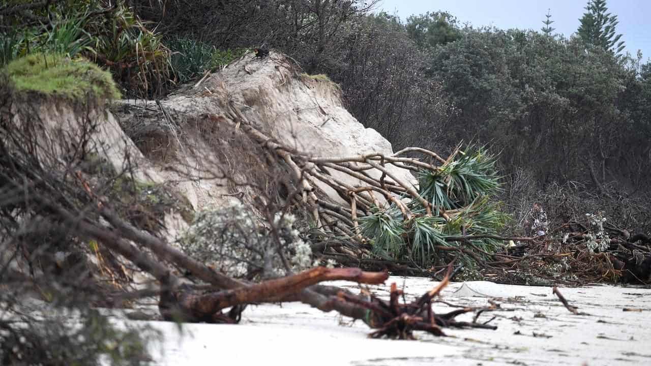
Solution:
{"label": "reddish-brown fallen tree trunk with forked limbs lying on white sand", "polygon": [[359,309],[332,302],[331,299],[316,295],[320,290],[329,290],[327,287],[317,287],[313,291],[306,290],[306,288],[322,281],[340,279],[357,283],[378,284],[383,283],[388,277],[386,272],[363,272],[359,268],[328,269],[320,267],[298,275],[251,285],[215,272],[163,243],[160,239],[146,232],[138,231],[130,224],[117,218],[110,211],[104,210],[104,215],[111,220],[113,225],[117,226],[117,232],[127,238],[134,239],[135,242],[139,242],[145,247],[149,247],[161,259],[173,260],[173,262],[181,266],[186,265],[184,268],[218,288],[223,288],[224,285],[229,286],[227,287],[229,290],[197,295],[187,285],[180,284],[179,279],[172,275],[161,262],[126,242],[117,232],[88,223],[44,197],[35,197],[35,199],[40,204],[57,212],[58,216],[64,219],[64,222],[67,223],[66,229],[68,230],[66,231],[74,229],[74,231],[84,236],[100,240],[109,249],[120,253],[143,271],[154,275],[161,283],[159,308],[161,309],[161,315],[167,320],[180,318],[186,321],[226,321],[227,318],[221,315],[221,310],[225,307],[243,305],[249,302],[278,301],[301,301],[324,311],[337,310],[342,315],[363,318],[363,311],[359,311]]}

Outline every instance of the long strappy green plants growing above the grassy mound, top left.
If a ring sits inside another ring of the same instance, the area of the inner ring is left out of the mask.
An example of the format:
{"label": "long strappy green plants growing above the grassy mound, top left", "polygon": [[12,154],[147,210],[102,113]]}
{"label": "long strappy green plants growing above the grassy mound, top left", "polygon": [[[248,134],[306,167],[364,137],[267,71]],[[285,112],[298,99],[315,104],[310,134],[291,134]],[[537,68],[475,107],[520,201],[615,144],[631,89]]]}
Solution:
{"label": "long strappy green plants growing above the grassy mound, top left", "polygon": [[147,29],[124,2],[115,8],[103,5],[96,0],[46,2],[31,10],[47,15],[45,23],[21,12],[7,16],[7,23],[26,25],[0,33],[0,61],[30,53],[81,55],[108,68],[129,96],[160,94],[169,79],[170,57],[161,35]]}

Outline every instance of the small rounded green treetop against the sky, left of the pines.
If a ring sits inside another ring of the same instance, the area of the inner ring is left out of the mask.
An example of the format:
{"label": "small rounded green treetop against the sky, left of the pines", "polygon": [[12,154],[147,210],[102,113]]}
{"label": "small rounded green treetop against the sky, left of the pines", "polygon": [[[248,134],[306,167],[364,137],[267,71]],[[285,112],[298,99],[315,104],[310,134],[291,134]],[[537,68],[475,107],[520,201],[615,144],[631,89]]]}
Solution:
{"label": "small rounded green treetop against the sky, left of the pines", "polygon": [[407,18],[407,34],[419,48],[454,42],[460,36],[456,18],[448,12],[426,12]]}

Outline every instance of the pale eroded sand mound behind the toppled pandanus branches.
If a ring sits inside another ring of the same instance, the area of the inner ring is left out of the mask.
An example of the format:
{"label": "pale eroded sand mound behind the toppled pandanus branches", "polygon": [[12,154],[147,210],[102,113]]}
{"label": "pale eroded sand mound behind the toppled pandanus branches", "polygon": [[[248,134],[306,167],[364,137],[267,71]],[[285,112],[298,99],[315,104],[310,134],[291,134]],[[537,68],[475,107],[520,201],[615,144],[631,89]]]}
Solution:
{"label": "pale eroded sand mound behind the toppled pandanus branches", "polygon": [[[292,61],[273,52],[264,59],[249,53],[165,100],[125,100],[113,110],[156,173],[175,182],[195,209],[219,206],[233,199],[231,194],[247,193],[245,187],[214,178],[219,173],[245,178],[237,166],[247,159],[233,148],[236,132],[229,127],[233,124],[250,123],[284,146],[312,156],[393,153],[389,141],[346,111],[338,85],[327,77],[300,74]],[[387,169],[413,180],[404,169],[393,165]],[[332,175],[349,186],[359,183],[338,172]],[[327,184],[318,188],[333,201],[343,202]]]}

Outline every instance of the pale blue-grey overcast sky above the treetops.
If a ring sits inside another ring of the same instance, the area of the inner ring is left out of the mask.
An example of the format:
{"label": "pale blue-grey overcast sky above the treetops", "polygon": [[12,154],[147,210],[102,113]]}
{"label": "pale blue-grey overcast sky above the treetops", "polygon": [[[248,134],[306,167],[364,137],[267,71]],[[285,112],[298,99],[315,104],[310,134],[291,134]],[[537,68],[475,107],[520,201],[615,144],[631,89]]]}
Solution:
{"label": "pale blue-grey overcast sky above the treetops", "polygon": [[[586,0],[381,0],[379,6],[402,20],[411,14],[445,10],[461,22],[492,25],[502,29],[539,30],[547,8],[551,9],[555,33],[572,35],[585,12]],[[626,51],[641,49],[651,57],[651,0],[609,0],[609,12],[618,16],[617,33],[626,41]]]}

